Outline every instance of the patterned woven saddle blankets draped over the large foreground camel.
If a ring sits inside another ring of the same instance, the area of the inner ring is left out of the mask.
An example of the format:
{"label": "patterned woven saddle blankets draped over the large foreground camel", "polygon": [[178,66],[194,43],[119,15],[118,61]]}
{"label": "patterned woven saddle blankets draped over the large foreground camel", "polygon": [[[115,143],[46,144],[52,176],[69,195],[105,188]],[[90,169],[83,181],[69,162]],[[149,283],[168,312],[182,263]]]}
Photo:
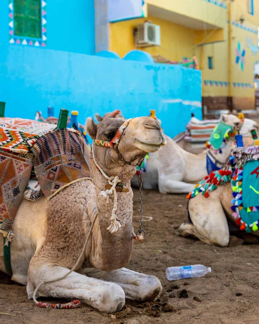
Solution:
{"label": "patterned woven saddle blankets draped over the large foreground camel", "polygon": [[[70,182],[89,177],[79,132],[55,128],[40,121],[0,118],[0,232],[4,236],[24,195],[29,200],[39,198],[41,192],[50,197]],[[37,178],[39,185],[30,178]]]}

